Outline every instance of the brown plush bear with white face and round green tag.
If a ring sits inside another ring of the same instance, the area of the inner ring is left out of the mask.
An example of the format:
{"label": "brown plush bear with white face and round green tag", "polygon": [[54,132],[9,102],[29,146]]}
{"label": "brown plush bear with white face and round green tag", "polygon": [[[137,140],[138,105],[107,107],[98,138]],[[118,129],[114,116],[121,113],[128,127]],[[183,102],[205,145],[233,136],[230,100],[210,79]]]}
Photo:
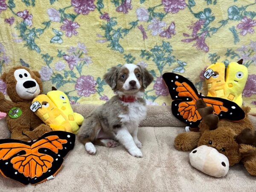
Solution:
{"label": "brown plush bear with white face and round green tag", "polygon": [[7,125],[12,139],[30,141],[52,131],[30,110],[32,100],[42,92],[40,77],[37,71],[26,67],[14,67],[1,76],[7,84],[7,94],[12,101],[5,99],[0,92],[0,111],[7,113]]}

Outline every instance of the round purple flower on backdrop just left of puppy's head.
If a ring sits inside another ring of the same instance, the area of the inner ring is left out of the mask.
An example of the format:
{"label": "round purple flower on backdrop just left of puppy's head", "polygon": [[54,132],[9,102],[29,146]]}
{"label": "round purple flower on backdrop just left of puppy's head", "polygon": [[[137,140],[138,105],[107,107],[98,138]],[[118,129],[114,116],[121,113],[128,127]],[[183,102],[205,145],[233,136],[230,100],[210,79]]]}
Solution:
{"label": "round purple flower on backdrop just left of puppy's head", "polygon": [[79,96],[88,97],[93,93],[96,93],[96,84],[97,82],[94,80],[93,76],[81,76],[76,80],[75,88],[77,90],[77,94]]}

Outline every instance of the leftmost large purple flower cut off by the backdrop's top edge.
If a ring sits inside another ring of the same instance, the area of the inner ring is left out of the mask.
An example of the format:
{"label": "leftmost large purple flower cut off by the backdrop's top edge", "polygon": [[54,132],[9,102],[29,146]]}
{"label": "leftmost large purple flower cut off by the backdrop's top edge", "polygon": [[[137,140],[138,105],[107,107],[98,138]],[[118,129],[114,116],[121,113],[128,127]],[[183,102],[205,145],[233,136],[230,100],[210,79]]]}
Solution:
{"label": "leftmost large purple flower cut off by the backdrop's top edge", "polygon": [[93,2],[94,0],[71,0],[71,5],[76,13],[87,15],[96,8]]}

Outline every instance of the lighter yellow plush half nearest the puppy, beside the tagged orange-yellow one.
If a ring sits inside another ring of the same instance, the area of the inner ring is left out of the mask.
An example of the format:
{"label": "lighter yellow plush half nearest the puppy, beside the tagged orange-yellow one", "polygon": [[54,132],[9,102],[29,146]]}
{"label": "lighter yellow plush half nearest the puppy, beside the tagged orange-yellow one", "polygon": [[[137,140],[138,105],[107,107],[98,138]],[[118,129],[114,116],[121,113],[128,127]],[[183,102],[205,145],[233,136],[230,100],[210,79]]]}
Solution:
{"label": "lighter yellow plush half nearest the puppy, beside the tagged orange-yellow one", "polygon": [[57,90],[55,87],[52,87],[52,91],[49,91],[47,96],[52,100],[57,108],[67,116],[67,119],[72,126],[72,132],[76,134],[79,130],[79,125],[82,125],[84,121],[84,117],[79,113],[73,112],[67,95],[62,91]]}

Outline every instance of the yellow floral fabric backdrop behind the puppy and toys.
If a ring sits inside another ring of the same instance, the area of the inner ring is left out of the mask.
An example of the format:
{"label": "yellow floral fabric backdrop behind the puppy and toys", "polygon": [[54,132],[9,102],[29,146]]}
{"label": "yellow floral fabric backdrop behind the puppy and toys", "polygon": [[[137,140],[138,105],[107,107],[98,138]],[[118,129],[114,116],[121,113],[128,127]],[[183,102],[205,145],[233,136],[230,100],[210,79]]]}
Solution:
{"label": "yellow floral fabric backdrop behind the puppy and toys", "polygon": [[163,73],[180,73],[207,94],[205,67],[243,58],[243,98],[256,113],[255,10],[255,0],[0,0],[0,73],[30,67],[44,93],[55,86],[72,104],[102,104],[114,94],[104,73],[140,64],[154,76],[147,103],[170,105]]}

